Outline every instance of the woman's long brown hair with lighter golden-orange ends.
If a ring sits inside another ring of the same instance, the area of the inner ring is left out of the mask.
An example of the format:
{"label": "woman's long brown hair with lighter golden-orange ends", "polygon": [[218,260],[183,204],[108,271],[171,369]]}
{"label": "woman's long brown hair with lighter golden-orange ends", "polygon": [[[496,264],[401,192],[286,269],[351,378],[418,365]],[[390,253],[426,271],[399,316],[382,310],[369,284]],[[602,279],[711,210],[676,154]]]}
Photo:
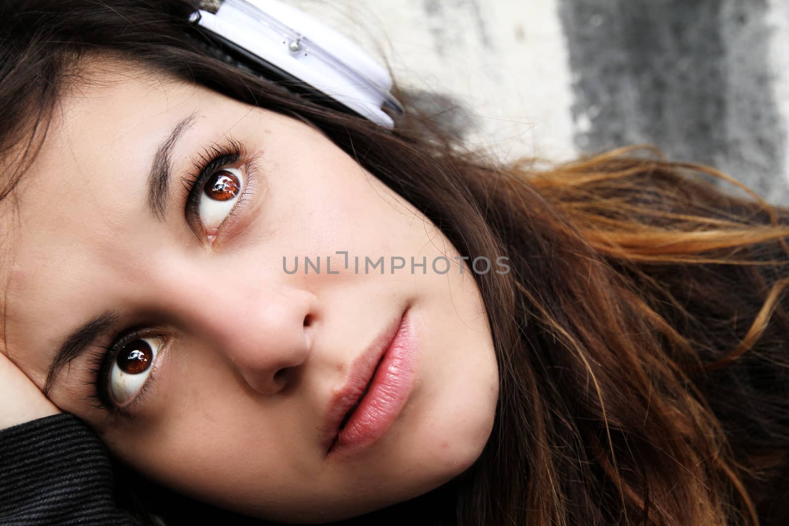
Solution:
{"label": "woman's long brown hair with lighter golden-orange ends", "polygon": [[[312,122],[460,253],[509,257],[509,274],[474,274],[500,380],[481,457],[342,524],[789,524],[789,209],[649,148],[500,166],[399,89],[406,117],[382,129],[229,65],[182,0],[4,5],[0,155],[14,169],[0,199],[58,95],[90,82],[80,65],[114,54]],[[196,503],[133,492],[137,476],[119,469],[119,498],[134,494],[123,502],[140,516],[189,522]]]}

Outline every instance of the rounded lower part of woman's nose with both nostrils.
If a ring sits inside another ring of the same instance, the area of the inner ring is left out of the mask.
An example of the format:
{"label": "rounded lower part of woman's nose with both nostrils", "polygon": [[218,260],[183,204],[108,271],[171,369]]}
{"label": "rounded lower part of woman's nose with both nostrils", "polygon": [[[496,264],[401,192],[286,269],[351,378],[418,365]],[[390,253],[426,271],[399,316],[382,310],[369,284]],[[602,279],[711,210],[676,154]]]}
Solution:
{"label": "rounded lower part of woman's nose with both nostrils", "polygon": [[[203,291],[206,292],[205,290]],[[316,297],[289,285],[219,288],[193,303],[191,323],[252,390],[271,396],[297,382],[313,347]]]}

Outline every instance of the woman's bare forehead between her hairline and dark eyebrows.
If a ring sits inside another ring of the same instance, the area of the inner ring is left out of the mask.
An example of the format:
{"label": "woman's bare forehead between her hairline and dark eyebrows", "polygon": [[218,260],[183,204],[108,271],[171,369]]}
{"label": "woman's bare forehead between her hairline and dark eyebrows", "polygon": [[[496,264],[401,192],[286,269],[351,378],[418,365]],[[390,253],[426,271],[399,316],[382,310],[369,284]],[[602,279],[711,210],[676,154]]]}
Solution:
{"label": "woman's bare forehead between her hairline and dark eyebrows", "polygon": [[[73,326],[84,320],[69,319],[69,312],[92,310],[89,304],[65,304],[73,293],[80,291],[80,302],[89,303],[101,274],[124,266],[125,275],[135,278],[133,266],[122,260],[128,254],[119,254],[112,240],[143,243],[145,232],[161,228],[148,212],[145,189],[159,144],[189,115],[196,116],[193,128],[199,132],[208,107],[238,112],[242,106],[130,65],[88,73],[87,84],[62,95],[13,200],[0,204],[9,233],[0,270],[6,284],[4,337],[14,360],[38,376],[34,381],[43,379],[62,338],[47,320],[57,320],[58,328]],[[35,341],[27,337],[32,324]]]}

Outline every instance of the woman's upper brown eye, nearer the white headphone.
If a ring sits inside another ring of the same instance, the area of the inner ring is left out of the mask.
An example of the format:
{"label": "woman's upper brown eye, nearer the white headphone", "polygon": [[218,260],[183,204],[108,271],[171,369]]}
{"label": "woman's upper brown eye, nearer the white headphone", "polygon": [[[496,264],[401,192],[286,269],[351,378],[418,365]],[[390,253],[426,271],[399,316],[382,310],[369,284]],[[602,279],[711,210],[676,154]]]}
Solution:
{"label": "woman's upper brown eye, nearer the white headphone", "polygon": [[241,198],[244,175],[238,168],[222,168],[208,177],[198,196],[197,211],[209,239]]}

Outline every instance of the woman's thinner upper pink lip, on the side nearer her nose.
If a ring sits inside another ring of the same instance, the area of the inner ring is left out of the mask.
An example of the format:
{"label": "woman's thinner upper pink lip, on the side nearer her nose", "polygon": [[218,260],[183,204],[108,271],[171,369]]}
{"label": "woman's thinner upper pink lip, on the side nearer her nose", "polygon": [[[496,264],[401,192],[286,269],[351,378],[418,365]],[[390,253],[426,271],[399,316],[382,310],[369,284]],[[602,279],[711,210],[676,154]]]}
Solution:
{"label": "woman's thinner upper pink lip, on the side nearer her nose", "polygon": [[384,330],[376,336],[372,343],[361,353],[348,369],[348,374],[342,385],[332,390],[328,407],[324,414],[327,415],[324,442],[328,450],[339,434],[340,423],[343,417],[353,408],[359,400],[365,387],[372,380],[372,375],[380,363],[381,358],[391,347],[394,337],[402,323],[402,314],[392,320]]}

